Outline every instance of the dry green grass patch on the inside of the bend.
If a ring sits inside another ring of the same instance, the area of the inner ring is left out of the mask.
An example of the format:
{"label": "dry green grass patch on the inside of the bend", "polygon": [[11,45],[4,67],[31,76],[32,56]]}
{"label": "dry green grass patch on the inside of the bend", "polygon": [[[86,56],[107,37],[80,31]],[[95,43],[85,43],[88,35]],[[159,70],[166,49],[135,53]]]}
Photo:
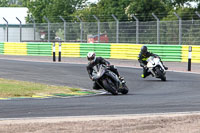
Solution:
{"label": "dry green grass patch on the inside of the bend", "polygon": [[0,78],[0,97],[32,97],[33,95],[52,95],[52,94],[78,94],[81,90],[66,86],[54,86],[40,83],[7,80]]}

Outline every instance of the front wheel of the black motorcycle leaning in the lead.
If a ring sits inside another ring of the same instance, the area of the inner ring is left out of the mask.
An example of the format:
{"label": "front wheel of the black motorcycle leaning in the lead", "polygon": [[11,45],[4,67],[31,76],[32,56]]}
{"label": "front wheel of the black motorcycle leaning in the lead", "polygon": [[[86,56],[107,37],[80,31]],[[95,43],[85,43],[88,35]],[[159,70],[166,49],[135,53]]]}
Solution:
{"label": "front wheel of the black motorcycle leaning in the lead", "polygon": [[113,83],[111,79],[106,78],[102,81],[102,83],[108,92],[110,92],[112,95],[118,95],[116,85]]}

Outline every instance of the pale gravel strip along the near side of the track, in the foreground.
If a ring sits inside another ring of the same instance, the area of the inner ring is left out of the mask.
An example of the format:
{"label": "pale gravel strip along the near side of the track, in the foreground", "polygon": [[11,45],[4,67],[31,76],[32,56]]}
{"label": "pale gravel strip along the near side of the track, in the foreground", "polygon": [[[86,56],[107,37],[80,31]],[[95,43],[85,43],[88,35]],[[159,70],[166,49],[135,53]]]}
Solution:
{"label": "pale gravel strip along the near side of the track, in the foreground", "polygon": [[[0,132],[181,132],[200,131],[200,112],[0,119]],[[20,128],[19,128],[20,127]]]}

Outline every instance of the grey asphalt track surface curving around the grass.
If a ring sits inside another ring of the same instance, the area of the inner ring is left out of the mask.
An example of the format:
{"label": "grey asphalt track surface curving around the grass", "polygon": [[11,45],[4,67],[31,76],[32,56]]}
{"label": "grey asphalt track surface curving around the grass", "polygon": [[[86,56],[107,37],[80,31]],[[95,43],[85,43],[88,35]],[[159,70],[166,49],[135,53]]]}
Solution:
{"label": "grey asphalt track surface curving around the grass", "polygon": [[[200,111],[200,75],[167,72],[167,81],[140,78],[142,69],[118,67],[127,95],[0,101],[0,119]],[[84,64],[0,60],[0,78],[92,88]]]}

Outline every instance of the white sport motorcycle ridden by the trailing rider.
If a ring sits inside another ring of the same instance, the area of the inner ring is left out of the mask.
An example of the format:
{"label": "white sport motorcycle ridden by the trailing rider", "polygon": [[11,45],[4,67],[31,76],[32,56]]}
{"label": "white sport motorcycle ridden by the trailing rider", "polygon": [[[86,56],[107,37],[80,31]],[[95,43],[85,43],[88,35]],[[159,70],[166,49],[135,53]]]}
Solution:
{"label": "white sport motorcycle ridden by the trailing rider", "polygon": [[160,58],[150,56],[147,59],[147,68],[151,72],[153,77],[160,78],[162,81],[166,81],[166,70],[160,61]]}

